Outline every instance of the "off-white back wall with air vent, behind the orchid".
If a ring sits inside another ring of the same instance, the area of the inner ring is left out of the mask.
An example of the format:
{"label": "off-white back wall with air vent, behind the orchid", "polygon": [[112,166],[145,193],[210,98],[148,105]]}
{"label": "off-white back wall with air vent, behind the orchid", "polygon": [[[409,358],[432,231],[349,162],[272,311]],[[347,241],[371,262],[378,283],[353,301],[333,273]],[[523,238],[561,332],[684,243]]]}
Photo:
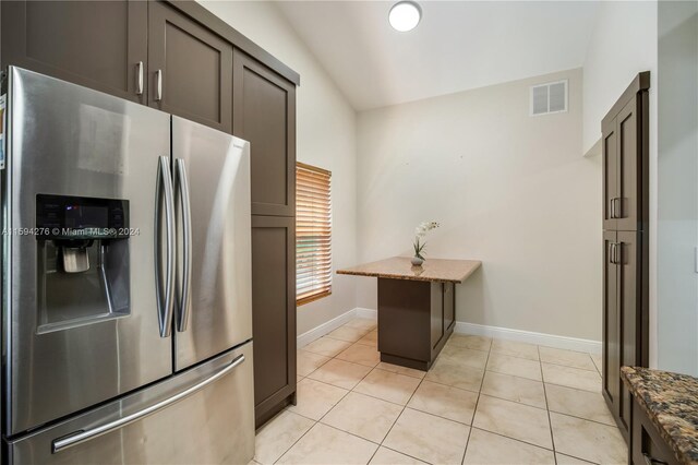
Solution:
{"label": "off-white back wall with air vent, behind the orchid", "polygon": [[[569,111],[529,117],[529,86],[569,80]],[[359,114],[359,262],[479,259],[457,320],[601,339],[601,165],[582,158],[581,70]],[[357,302],[376,308],[376,283]]]}

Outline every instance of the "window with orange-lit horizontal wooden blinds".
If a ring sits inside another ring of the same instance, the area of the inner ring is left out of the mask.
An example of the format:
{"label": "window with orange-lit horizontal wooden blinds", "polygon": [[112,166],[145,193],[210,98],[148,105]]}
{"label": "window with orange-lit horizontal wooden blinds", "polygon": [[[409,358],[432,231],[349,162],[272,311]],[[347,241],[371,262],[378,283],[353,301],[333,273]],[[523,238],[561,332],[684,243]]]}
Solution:
{"label": "window with orange-lit horizontal wooden blinds", "polygon": [[332,294],[332,172],[296,164],[296,303]]}

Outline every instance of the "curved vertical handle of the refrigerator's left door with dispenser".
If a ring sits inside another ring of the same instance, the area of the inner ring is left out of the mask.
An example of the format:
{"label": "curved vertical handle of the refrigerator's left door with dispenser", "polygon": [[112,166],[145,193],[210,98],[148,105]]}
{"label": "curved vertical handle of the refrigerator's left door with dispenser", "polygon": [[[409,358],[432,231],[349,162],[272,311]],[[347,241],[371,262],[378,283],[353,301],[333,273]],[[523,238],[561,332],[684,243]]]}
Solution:
{"label": "curved vertical handle of the refrigerator's left door with dispenser", "polygon": [[[155,194],[155,281],[157,283],[158,320],[160,337],[169,337],[172,329],[172,307],[174,305],[174,201],[172,199],[172,176],[169,157],[158,158],[157,186]],[[160,194],[165,196],[165,291],[160,294]]]}

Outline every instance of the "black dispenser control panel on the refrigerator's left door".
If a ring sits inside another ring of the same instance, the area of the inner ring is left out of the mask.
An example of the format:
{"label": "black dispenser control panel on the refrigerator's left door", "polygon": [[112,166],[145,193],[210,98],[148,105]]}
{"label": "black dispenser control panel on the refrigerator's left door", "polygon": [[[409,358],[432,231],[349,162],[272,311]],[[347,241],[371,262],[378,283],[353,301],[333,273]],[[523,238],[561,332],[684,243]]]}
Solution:
{"label": "black dispenser control panel on the refrigerator's left door", "polygon": [[125,239],[129,201],[69,195],[36,195],[38,239]]}

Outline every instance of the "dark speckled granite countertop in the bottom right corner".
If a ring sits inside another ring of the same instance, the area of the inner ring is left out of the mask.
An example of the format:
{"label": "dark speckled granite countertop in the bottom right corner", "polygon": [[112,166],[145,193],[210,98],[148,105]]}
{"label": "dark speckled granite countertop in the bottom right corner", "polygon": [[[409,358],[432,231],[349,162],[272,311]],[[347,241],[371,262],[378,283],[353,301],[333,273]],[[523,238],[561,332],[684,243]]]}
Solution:
{"label": "dark speckled granite countertop in the bottom right corner", "polygon": [[685,464],[698,464],[698,378],[623,367],[623,382]]}

